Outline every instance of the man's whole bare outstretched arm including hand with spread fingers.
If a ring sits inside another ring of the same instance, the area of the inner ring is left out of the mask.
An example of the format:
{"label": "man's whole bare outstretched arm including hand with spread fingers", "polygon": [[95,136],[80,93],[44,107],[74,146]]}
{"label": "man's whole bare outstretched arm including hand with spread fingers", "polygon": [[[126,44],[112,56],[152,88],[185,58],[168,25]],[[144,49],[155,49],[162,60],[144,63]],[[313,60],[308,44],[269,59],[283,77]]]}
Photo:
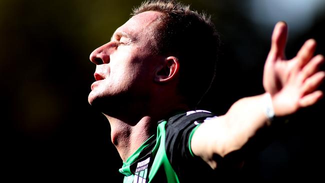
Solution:
{"label": "man's whole bare outstretched arm including hand with spread fingers", "polygon": [[194,132],[192,152],[212,168],[218,166],[215,154],[224,157],[239,150],[256,137],[259,129],[273,125],[265,113],[269,105],[275,116],[287,116],[321,98],[322,91],[316,89],[325,77],[324,71],[318,71],[324,59],[322,55],[313,56],[315,41],[307,40],[294,58],[286,60],[286,37],[286,24],[278,22],[264,66],[263,86],[266,92],[239,99],[226,114],[202,123]]}

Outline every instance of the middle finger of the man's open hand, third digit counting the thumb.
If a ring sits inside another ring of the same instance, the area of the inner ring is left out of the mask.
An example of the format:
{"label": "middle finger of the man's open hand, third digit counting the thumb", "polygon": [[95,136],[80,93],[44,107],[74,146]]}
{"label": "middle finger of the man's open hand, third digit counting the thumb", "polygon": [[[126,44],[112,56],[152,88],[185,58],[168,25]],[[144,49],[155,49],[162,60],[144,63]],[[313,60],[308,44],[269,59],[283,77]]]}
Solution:
{"label": "middle finger of the man's open hand, third digit counting the thumb", "polygon": [[310,75],[314,74],[321,63],[324,62],[324,57],[321,54],[314,56],[301,70],[301,81],[304,81]]}

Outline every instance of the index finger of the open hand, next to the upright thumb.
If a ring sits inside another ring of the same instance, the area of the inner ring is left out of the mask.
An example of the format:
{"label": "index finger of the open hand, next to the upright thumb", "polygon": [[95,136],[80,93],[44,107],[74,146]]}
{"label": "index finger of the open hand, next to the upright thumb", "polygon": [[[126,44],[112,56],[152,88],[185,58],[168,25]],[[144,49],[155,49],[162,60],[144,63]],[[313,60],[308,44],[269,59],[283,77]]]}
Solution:
{"label": "index finger of the open hand, next to the upright thumb", "polygon": [[314,39],[308,39],[301,46],[296,58],[298,59],[297,67],[302,68],[312,57],[316,48],[316,41]]}

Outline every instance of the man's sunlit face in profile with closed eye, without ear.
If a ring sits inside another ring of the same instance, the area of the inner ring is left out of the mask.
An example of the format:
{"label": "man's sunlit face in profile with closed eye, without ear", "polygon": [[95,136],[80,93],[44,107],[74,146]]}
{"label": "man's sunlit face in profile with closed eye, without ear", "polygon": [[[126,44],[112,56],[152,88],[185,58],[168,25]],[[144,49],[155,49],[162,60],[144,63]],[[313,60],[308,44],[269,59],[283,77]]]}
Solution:
{"label": "man's sunlit face in profile with closed eye, without ear", "polygon": [[151,53],[152,29],[160,15],[146,11],[131,17],[116,29],[108,43],[90,54],[90,60],[96,64],[96,81],[88,96],[90,104],[102,98],[110,101],[113,96],[123,96],[127,100],[125,96],[141,97],[149,92],[157,59]]}

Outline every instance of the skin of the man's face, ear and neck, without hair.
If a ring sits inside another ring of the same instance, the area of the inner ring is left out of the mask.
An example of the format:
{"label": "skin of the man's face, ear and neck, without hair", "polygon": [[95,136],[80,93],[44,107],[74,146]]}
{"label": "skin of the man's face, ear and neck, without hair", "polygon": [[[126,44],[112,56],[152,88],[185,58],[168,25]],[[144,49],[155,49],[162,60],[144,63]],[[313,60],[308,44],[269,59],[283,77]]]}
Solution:
{"label": "skin of the man's face, ear and neck, without hair", "polygon": [[123,160],[155,133],[161,117],[188,109],[176,94],[178,60],[151,51],[154,23],[161,15],[132,16],[90,54],[96,81],[88,101],[109,120],[111,140]]}

